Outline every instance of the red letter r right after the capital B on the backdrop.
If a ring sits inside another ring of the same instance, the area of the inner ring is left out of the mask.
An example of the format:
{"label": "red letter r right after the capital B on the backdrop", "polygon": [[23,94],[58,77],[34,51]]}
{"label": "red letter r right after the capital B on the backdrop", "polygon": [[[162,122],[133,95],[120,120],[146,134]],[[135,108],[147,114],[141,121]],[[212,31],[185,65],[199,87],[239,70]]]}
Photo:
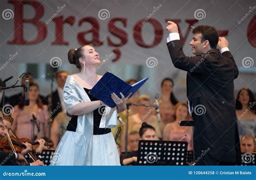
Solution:
{"label": "red letter r right after the capital B on the backdrop", "polygon": [[64,40],[63,37],[63,24],[67,23],[73,25],[75,22],[75,17],[69,16],[66,19],[63,19],[63,16],[55,17],[52,19],[55,22],[55,40],[51,43],[53,45],[69,45],[68,41]]}

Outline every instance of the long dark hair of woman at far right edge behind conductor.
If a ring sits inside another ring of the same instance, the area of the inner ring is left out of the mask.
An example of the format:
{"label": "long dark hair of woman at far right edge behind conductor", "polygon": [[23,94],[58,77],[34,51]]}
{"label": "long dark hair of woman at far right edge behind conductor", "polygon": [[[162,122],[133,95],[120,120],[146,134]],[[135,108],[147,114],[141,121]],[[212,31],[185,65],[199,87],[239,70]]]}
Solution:
{"label": "long dark hair of woman at far right edge behind conductor", "polygon": [[237,94],[237,99],[235,100],[235,109],[242,109],[242,103],[239,101],[239,96],[242,93],[242,91],[247,91],[249,95],[249,102],[248,106],[250,107],[250,110],[253,114],[256,114],[256,102],[254,99],[254,95],[249,88],[241,88]]}

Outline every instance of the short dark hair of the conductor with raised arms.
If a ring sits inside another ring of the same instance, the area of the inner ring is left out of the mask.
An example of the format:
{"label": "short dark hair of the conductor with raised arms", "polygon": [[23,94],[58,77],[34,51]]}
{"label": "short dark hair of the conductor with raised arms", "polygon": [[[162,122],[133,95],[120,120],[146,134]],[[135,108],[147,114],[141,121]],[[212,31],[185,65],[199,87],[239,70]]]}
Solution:
{"label": "short dark hair of the conductor with raised arms", "polygon": [[197,33],[202,34],[201,43],[203,43],[203,41],[205,40],[208,40],[211,48],[217,47],[218,41],[219,41],[219,34],[215,29],[215,27],[200,25],[194,28],[192,32],[193,34],[197,34]]}

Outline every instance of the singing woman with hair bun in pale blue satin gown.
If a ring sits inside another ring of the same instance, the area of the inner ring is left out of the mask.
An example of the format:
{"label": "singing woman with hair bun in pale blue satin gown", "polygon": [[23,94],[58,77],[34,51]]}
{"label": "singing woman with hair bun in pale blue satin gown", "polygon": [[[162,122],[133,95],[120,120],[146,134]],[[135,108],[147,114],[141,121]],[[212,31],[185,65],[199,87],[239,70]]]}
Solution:
{"label": "singing woman with hair bun in pale blue satin gown", "polygon": [[[67,113],[77,116],[75,131],[67,130],[53,155],[51,165],[120,165],[119,154],[112,133],[93,135],[93,111],[104,105],[102,101],[91,101],[85,89],[91,89],[102,77],[96,74],[100,64],[99,54],[92,46],[71,49],[69,62],[79,68],[80,73],[69,75],[63,90]],[[113,128],[117,124],[117,113],[126,109],[126,100],[112,94],[117,107],[105,106],[99,128]],[[128,95],[127,97],[129,97]]]}

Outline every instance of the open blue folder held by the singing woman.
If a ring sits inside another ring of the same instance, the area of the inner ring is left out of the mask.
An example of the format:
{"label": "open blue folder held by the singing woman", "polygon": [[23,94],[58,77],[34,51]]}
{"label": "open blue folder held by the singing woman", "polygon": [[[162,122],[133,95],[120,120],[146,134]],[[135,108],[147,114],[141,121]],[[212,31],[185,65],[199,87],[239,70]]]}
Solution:
{"label": "open blue folder held by the singing woman", "polygon": [[129,93],[132,93],[129,98],[148,80],[149,78],[144,78],[143,80],[137,82],[136,84],[129,85],[127,82],[116,77],[116,75],[106,72],[103,77],[97,82],[95,86],[89,92],[95,98],[103,101],[109,107],[116,107],[116,103],[111,98],[112,93],[116,93],[119,98],[121,98],[120,92],[126,97]]}

